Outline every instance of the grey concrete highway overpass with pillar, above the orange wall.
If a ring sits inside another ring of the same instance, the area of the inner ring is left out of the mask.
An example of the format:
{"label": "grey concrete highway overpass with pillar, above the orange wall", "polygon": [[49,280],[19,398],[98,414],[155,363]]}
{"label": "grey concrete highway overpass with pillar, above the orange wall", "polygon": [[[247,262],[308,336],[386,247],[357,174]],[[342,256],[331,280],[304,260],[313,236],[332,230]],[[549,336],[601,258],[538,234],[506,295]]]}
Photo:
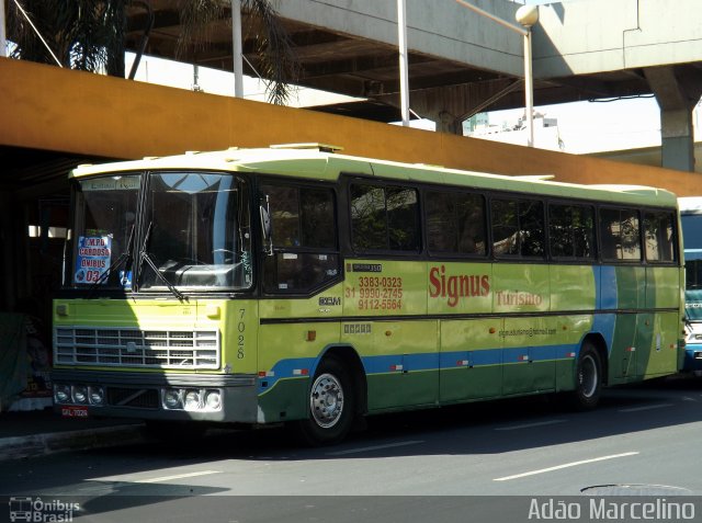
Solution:
{"label": "grey concrete highway overpass with pillar, above the orange wall", "polygon": [[[516,24],[509,0],[469,0]],[[180,21],[173,2],[155,0],[147,53],[173,58]],[[395,0],[285,0],[276,8],[299,62],[298,83],[389,104],[399,103]],[[136,49],[145,12],[132,8]],[[211,45],[181,56],[231,70],[229,13]],[[251,23],[246,16],[244,26]],[[407,0],[409,105],[461,134],[482,111],[522,107],[522,36],[455,0]],[[247,61],[260,68],[250,38]],[[534,103],[655,95],[661,110],[663,164],[693,170],[691,110],[702,94],[699,0],[577,0],[539,8],[533,27]],[[245,61],[245,72],[256,75]],[[349,112],[349,107],[344,107]]]}

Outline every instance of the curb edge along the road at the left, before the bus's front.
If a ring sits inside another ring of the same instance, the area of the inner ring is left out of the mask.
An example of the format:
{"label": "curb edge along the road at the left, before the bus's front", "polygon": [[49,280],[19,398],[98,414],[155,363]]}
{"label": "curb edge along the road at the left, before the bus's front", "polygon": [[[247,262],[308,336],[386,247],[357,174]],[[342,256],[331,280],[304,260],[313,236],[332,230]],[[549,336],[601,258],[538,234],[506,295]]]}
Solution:
{"label": "curb edge along the road at the left, before the bus's front", "polygon": [[0,439],[0,462],[48,454],[141,443],[143,424],[103,427]]}

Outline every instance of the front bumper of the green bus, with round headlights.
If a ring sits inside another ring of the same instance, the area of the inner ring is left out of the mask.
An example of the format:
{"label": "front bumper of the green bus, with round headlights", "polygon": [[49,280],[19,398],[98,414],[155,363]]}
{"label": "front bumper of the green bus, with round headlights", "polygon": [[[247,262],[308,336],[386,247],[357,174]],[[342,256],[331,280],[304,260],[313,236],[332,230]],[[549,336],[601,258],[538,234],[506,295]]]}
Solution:
{"label": "front bumper of the green bus, with round headlights", "polygon": [[256,376],[54,369],[54,410],[71,418],[256,423]]}

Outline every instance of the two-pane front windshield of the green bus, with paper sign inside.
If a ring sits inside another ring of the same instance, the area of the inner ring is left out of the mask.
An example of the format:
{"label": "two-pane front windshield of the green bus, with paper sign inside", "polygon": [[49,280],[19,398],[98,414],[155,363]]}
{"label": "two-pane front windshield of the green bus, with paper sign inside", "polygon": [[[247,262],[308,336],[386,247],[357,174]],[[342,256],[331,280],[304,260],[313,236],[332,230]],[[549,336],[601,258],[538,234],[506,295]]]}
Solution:
{"label": "two-pane front windshield of the green bus, with paper sign inside", "polygon": [[141,174],[79,181],[71,285],[176,294],[249,288],[246,181],[211,172],[145,175],[143,185]]}

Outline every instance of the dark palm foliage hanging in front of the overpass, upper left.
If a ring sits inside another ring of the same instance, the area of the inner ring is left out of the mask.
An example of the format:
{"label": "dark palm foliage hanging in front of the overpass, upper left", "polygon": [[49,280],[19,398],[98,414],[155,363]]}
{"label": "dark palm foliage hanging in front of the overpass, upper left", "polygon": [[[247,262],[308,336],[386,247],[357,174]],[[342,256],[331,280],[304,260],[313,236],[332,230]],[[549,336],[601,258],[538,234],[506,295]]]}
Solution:
{"label": "dark palm foliage hanging in front of the overpass, upper left", "polygon": [[[0,0],[3,1],[3,0]],[[133,0],[19,0],[29,15],[8,2],[8,39],[14,44],[12,58],[55,64],[46,41],[61,66],[124,77],[126,8]],[[135,2],[137,3],[137,2]],[[143,3],[143,2],[138,2]],[[181,34],[179,56],[188,47],[205,48],[208,29],[216,21],[230,22],[228,0],[176,0]],[[297,66],[290,36],[271,0],[241,0],[251,23],[246,37],[256,43],[258,72],[267,82],[269,101],[283,104],[290,96],[290,82],[297,79]]]}

